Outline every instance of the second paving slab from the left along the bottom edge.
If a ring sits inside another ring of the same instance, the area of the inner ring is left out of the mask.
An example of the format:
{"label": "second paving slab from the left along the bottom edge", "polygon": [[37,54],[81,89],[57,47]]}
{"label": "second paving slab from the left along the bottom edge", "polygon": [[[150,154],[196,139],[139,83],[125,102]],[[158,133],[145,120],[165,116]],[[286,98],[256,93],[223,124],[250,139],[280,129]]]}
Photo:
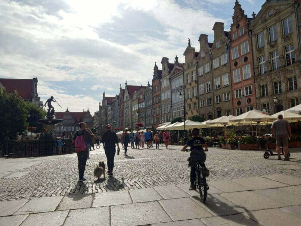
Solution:
{"label": "second paving slab from the left along the bottom edge", "polygon": [[65,218],[68,215],[68,210],[55,211],[47,213],[34,213],[30,214],[26,220],[22,223],[22,226],[33,226],[33,225],[47,225],[57,226],[63,225]]}

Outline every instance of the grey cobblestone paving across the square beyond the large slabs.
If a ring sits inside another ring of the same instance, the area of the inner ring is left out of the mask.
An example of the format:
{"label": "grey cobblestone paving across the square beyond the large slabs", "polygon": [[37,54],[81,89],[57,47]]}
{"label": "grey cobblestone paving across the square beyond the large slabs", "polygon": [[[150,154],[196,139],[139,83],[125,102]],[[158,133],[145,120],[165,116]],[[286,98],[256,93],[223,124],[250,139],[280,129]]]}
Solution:
{"label": "grey cobblestone paving across the square beyond the large slabs", "polygon": [[[34,197],[62,196],[132,190],[160,185],[189,182],[187,158],[180,146],[168,150],[123,149],[115,156],[114,176],[97,181],[93,168],[86,167],[85,183],[77,183],[76,154],[36,158],[0,159],[0,201],[32,199]],[[292,149],[291,162],[278,161],[277,156],[263,158],[263,151],[240,151],[209,148],[206,166],[210,169],[209,181],[253,177],[282,173],[301,177],[301,150]],[[90,152],[87,165],[95,166],[106,157],[102,147]]]}

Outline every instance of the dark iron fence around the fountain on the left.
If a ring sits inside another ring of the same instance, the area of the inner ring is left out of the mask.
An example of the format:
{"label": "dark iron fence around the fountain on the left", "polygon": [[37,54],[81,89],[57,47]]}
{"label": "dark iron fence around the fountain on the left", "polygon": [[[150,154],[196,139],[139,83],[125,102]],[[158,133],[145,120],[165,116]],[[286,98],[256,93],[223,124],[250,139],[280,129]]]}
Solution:
{"label": "dark iron fence around the fountain on the left", "polygon": [[[72,138],[61,139],[62,155],[75,153]],[[3,143],[2,157],[36,157],[59,155],[57,139],[7,140]]]}

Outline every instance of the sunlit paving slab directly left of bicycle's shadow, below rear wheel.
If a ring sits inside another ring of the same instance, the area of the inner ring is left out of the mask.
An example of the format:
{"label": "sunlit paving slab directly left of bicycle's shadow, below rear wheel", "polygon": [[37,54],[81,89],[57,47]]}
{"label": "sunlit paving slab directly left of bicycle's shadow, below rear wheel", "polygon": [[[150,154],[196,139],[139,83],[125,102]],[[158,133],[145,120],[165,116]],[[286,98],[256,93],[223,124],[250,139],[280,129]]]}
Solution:
{"label": "sunlit paving slab directly left of bicycle's shadow, below rear wheel", "polygon": [[159,202],[173,221],[212,216],[191,198],[167,199]]}

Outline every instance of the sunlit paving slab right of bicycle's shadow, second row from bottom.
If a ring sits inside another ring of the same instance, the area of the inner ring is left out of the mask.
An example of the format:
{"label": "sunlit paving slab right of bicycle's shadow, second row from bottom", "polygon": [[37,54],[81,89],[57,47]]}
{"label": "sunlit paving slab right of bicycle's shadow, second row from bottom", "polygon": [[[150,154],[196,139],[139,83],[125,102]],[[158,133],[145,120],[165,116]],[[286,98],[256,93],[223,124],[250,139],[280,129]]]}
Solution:
{"label": "sunlit paving slab right of bicycle's shadow, second row from bottom", "polygon": [[222,193],[221,196],[236,203],[246,211],[285,207],[287,204],[274,201],[253,191]]}

